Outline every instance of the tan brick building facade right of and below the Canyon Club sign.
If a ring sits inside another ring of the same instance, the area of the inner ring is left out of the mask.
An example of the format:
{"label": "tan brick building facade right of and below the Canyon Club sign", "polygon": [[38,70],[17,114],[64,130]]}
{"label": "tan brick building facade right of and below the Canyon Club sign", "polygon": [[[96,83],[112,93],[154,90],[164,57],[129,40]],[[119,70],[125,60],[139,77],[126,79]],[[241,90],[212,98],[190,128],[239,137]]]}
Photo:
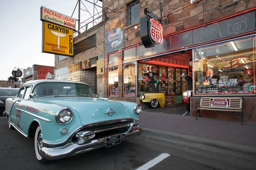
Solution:
{"label": "tan brick building facade right of and below the Canyon Club sign", "polygon": [[[60,59],[60,56],[55,55],[55,79],[86,82],[91,85],[94,95],[103,96],[104,39],[104,22],[75,37],[74,57]],[[79,43],[81,45],[77,46]]]}

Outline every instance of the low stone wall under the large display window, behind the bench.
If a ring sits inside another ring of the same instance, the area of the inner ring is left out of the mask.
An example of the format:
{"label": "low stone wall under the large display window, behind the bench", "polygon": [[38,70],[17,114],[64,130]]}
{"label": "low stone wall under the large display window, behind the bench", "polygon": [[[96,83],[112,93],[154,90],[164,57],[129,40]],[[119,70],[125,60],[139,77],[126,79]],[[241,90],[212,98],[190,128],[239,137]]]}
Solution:
{"label": "low stone wall under the large display window, behind the bench", "polygon": [[[200,97],[191,97],[190,102],[190,116],[196,116],[197,102],[200,102]],[[235,113],[238,112],[201,110],[201,117],[241,121],[241,116]],[[256,97],[243,97],[243,113],[245,122],[256,122]]]}

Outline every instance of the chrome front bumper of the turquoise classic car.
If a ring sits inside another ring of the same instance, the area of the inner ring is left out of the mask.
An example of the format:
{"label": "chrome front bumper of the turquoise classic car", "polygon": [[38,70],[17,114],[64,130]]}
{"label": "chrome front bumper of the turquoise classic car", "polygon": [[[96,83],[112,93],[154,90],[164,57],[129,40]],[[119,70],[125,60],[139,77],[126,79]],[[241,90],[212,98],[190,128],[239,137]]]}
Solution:
{"label": "chrome front bumper of the turquoise classic car", "polygon": [[[137,127],[132,132],[129,133],[119,133],[120,140],[125,141],[127,139],[134,138],[136,136],[140,136],[143,133],[143,130],[140,127]],[[105,136],[104,138],[91,140],[88,144],[79,145],[77,143],[68,143],[61,147],[42,147],[39,152],[40,155],[47,160],[56,160],[63,159],[70,156],[74,156],[80,153],[89,152],[91,150],[96,150],[101,147],[106,147],[107,138],[111,136]]]}

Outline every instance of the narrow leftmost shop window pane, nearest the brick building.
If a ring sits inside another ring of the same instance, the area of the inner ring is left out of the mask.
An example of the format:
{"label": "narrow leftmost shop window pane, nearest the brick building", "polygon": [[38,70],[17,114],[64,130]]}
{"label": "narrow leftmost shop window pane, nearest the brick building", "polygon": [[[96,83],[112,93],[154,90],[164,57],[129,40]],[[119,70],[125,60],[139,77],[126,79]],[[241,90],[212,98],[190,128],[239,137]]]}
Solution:
{"label": "narrow leftmost shop window pane, nearest the brick building", "polygon": [[108,68],[108,95],[118,96],[118,66]]}

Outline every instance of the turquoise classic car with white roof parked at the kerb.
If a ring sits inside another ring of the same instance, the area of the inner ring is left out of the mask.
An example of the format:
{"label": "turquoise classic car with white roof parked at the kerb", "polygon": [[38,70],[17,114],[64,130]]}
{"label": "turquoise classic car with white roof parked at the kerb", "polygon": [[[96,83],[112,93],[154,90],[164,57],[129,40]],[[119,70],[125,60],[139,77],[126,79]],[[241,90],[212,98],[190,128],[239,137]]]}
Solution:
{"label": "turquoise classic car with white roof parked at the kerb", "polygon": [[10,129],[35,137],[36,158],[45,163],[141,135],[141,112],[134,102],[93,97],[86,83],[45,79],[23,84],[3,114]]}

